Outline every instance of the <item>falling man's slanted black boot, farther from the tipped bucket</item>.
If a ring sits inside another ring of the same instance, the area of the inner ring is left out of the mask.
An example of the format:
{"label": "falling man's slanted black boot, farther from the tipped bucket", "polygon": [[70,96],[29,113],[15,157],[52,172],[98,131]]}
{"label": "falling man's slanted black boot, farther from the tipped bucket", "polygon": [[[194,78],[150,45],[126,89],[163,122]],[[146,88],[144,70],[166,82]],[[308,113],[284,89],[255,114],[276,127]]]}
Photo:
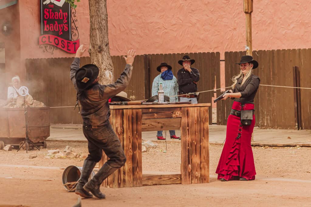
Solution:
{"label": "falling man's slanted black boot, farther from the tipped bucket", "polygon": [[94,178],[92,178],[89,182],[87,182],[83,188],[87,192],[90,192],[96,196],[97,198],[105,198],[105,194],[100,192],[100,185],[103,181],[118,168],[112,168],[109,164],[105,163],[100,170],[95,174]]}

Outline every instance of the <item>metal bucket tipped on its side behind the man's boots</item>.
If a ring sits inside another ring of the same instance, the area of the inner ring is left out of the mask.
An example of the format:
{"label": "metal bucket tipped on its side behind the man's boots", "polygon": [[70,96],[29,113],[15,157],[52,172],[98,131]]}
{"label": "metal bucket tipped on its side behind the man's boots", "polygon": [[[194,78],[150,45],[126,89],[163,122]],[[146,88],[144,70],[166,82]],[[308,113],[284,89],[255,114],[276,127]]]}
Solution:
{"label": "metal bucket tipped on its side behind the man's boots", "polygon": [[[69,165],[63,172],[63,186],[67,191],[75,191],[76,190],[76,184],[67,184],[66,183],[73,183],[77,182],[81,176],[82,167]],[[89,180],[91,180],[95,175],[95,172],[92,171]]]}

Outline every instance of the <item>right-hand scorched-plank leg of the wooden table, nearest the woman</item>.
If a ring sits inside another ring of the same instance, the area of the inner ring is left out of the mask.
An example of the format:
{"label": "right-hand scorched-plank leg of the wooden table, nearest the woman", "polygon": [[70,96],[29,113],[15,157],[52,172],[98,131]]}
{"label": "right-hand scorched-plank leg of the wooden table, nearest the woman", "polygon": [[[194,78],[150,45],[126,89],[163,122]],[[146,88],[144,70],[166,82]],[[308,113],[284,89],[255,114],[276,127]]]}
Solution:
{"label": "right-hand scorched-plank leg of the wooden table, nearest the woman", "polygon": [[182,107],[182,184],[209,182],[208,107]]}

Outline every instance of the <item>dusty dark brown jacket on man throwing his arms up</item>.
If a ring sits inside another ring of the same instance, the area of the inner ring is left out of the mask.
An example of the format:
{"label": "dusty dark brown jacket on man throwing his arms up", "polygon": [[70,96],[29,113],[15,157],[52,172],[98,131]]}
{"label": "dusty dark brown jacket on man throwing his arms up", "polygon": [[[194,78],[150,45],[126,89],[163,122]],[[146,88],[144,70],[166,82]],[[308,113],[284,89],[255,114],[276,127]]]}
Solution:
{"label": "dusty dark brown jacket on man throwing his arms up", "polygon": [[84,124],[92,126],[107,124],[110,117],[108,100],[128,86],[132,76],[132,65],[125,65],[124,71],[115,83],[109,85],[95,83],[85,91],[78,90],[75,78],[75,74],[80,68],[80,58],[75,58],[70,68],[70,79],[77,91]]}

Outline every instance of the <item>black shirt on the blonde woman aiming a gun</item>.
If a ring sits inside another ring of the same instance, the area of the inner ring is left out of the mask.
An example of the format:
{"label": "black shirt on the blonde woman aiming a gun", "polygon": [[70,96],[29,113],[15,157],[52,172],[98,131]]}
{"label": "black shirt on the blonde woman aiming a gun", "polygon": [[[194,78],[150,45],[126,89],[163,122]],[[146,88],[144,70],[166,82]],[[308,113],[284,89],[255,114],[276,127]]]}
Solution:
{"label": "black shirt on the blonde woman aiming a gun", "polygon": [[251,103],[254,104],[254,98],[259,87],[260,79],[257,75],[251,75],[245,83],[241,86],[243,76],[238,79],[235,84],[234,93],[241,93],[240,98],[235,98],[234,101],[238,101],[241,104]]}

